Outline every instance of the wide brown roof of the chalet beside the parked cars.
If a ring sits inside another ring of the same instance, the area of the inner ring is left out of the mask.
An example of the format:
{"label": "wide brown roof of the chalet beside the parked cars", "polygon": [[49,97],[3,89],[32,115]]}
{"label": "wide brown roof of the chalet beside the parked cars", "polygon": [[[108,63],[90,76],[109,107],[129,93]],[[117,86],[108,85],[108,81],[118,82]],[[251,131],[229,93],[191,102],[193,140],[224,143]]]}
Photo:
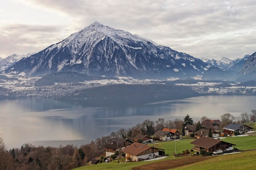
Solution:
{"label": "wide brown roof of the chalet beside the parked cars", "polygon": [[[202,148],[211,148],[219,143],[226,143],[226,144],[231,144],[231,143],[228,143],[228,142],[225,142],[225,141],[221,141],[219,139],[213,139],[213,138],[210,138],[210,137],[200,137],[196,140],[194,140],[193,142],[191,142],[191,144],[193,145],[196,145],[196,146],[200,146]],[[231,144],[231,145],[235,145],[235,144]]]}

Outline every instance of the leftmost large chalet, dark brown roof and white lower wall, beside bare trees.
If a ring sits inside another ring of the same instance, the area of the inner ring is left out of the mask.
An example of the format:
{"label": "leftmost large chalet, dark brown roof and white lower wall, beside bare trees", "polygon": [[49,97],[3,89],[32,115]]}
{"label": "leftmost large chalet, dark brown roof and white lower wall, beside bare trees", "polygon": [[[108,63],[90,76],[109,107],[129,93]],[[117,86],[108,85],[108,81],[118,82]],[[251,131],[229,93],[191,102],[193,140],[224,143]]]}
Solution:
{"label": "leftmost large chalet, dark brown roof and white lower wall, beside bare trees", "polygon": [[114,155],[117,150],[123,149],[128,146],[130,142],[127,139],[112,138],[106,144],[106,157]]}

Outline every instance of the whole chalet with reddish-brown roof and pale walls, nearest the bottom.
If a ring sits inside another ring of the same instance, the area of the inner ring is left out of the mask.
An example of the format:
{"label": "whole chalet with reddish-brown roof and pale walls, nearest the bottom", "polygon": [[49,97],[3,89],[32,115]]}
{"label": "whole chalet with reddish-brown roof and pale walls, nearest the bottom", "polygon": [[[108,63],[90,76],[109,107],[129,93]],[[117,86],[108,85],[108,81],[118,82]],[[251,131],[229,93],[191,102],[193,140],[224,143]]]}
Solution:
{"label": "whole chalet with reddish-brown roof and pale walls, nearest the bottom", "polygon": [[154,146],[140,144],[137,142],[134,142],[121,151],[125,153],[126,161],[142,161],[159,157],[161,153],[164,155],[164,149],[155,148]]}

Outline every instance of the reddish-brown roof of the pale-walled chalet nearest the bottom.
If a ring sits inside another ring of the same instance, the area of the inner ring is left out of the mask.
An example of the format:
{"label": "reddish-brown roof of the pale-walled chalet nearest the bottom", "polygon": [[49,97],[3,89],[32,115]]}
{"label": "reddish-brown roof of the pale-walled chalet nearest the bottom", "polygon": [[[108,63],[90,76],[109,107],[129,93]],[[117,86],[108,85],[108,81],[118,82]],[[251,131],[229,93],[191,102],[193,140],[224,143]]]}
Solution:
{"label": "reddish-brown roof of the pale-walled chalet nearest the bottom", "polygon": [[151,148],[151,146],[134,142],[130,146],[127,146],[126,148],[124,148],[122,150],[122,152],[126,152],[126,153],[129,153],[129,154],[132,154],[132,155],[136,156],[136,155],[139,155],[141,152],[144,152],[145,150],[147,150],[149,148]]}

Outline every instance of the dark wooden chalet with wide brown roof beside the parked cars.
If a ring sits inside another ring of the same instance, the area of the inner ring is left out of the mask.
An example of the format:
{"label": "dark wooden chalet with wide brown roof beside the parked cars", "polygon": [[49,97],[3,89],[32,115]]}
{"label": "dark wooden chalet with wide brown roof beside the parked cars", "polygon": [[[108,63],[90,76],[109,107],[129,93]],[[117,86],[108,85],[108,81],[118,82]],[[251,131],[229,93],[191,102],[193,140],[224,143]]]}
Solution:
{"label": "dark wooden chalet with wide brown roof beside the parked cars", "polygon": [[194,140],[193,142],[191,142],[191,144],[194,145],[192,150],[195,150],[196,152],[200,152],[201,149],[207,150],[207,152],[213,152],[214,150],[225,149],[229,146],[235,145],[225,141],[221,141],[219,139],[213,139],[204,136]]}

